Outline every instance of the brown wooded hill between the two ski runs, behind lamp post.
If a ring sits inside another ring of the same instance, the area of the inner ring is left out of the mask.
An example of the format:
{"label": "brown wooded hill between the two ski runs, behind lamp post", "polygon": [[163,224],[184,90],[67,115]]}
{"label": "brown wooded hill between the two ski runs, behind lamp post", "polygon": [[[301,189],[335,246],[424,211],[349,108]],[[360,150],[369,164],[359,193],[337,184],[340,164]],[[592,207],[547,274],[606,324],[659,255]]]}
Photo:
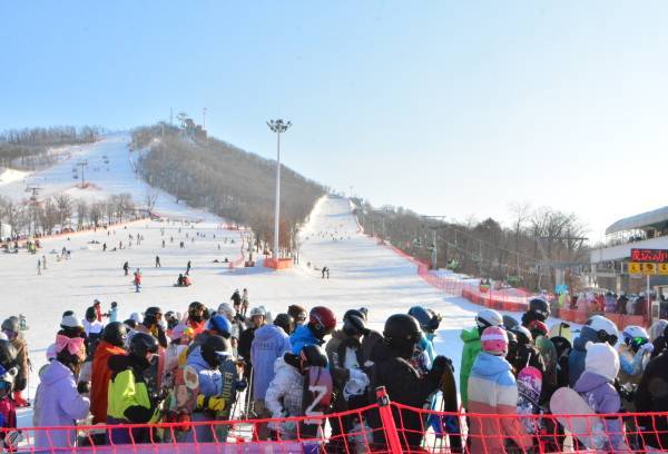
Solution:
{"label": "brown wooded hill between the two ski runs, behind lamp post", "polygon": [[[148,147],[139,172],[153,186],[195,207],[249,226],[256,241],[273,240],[276,162],[229,144],[167,125],[138,128],[132,147]],[[297,225],[325,188],[281,167],[281,247],[294,249]]]}

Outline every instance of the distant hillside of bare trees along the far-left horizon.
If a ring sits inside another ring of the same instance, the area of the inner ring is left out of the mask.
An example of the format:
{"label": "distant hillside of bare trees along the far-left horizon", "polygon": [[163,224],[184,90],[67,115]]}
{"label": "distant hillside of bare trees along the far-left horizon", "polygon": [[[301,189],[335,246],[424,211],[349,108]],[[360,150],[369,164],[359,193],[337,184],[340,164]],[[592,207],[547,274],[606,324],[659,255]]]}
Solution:
{"label": "distant hillside of bare trees along the far-left horizon", "polygon": [[99,135],[100,129],[90,126],[6,130],[0,134],[0,166],[20,170],[45,168],[53,164],[50,148],[94,142]]}

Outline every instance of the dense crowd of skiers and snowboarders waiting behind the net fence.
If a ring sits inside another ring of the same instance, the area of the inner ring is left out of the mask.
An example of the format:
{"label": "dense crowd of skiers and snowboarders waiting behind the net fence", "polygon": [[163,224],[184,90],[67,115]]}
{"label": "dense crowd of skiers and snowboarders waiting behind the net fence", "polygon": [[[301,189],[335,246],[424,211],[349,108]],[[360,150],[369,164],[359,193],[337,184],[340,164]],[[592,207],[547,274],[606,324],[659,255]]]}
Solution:
{"label": "dense crowd of skiers and snowboarders waiting behind the net fence", "polygon": [[[33,425],[72,426],[84,421],[107,424],[111,430],[85,440],[77,440],[75,431],[36,431],[35,447],[174,437],[212,442],[220,440],[219,428],[193,428],[186,423],[233,417],[281,420],[256,424],[254,437],[296,440],[323,433],[325,422],[291,417],[321,414],[310,413],[314,409],[326,415],[366,407],[375,402],[379,386],[386,388],[393,402],[438,409],[434,396],[442,388],[443,376],[456,372],[461,407],[466,413],[517,415],[517,377],[525,367],[540,371],[542,377],[538,423],[525,425],[521,417],[501,418],[500,423],[470,417],[470,452],[532,452],[539,443],[542,450],[561,451],[563,428],[553,418],[540,418],[550,413],[550,398],[561,387],[574,389],[600,414],[668,409],[668,356],[662,354],[668,345],[667,320],[655,323],[649,333],[627,326],[620,334],[610,319],[595,315],[571,345],[562,324],[548,328],[550,305],[542,298],[530,302],[521,320],[484,308],[475,316],[474,326],[461,333],[463,349],[455,372],[450,358],[434,352],[441,316],[425,307],[390,316],[379,333],[369,328],[365,307],[346,310],[337,323],[334,312],[324,306],[307,310],[291,305],[272,316],[263,306],[248,310],[248,304],[247,289],[237,289],[229,303],[214,309],[193,302],[183,315],[153,306],[120,322],[118,305],[114,303],[104,313],[99,300],[86,310],[84,319],[65,312],[47,352],[49,363],[39,371]],[[553,362],[542,351],[546,339],[556,351]],[[30,371],[27,352],[18,318],[6,319],[0,335],[0,421],[8,430],[16,428],[16,408],[28,405],[22,395]],[[232,374],[226,373],[229,365]],[[177,377],[187,366],[198,376],[189,411],[177,405],[183,404]],[[311,394],[314,384],[325,392]],[[404,447],[419,448],[430,426],[423,415],[395,408],[394,417],[401,421]],[[666,422],[632,422],[639,430],[651,430],[652,438],[649,433],[631,436],[638,431],[627,430],[630,423],[622,418],[602,421],[609,451],[626,446],[660,451],[668,445]],[[176,435],[153,426],[127,427],[158,422],[184,425]],[[306,427],[308,424],[313,426]],[[327,452],[347,452],[354,436],[346,434],[361,432],[369,437],[363,446],[385,446],[377,412],[332,417],[328,425],[330,442],[323,445]],[[456,426],[448,425],[446,431],[460,436]],[[346,436],[351,438],[347,442]]]}

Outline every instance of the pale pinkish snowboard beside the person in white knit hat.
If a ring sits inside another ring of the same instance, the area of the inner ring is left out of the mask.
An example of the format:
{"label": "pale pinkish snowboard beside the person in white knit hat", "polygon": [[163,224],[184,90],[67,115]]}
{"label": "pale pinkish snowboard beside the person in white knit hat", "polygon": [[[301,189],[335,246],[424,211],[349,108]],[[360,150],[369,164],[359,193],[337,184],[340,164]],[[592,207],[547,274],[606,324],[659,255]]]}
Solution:
{"label": "pale pinkish snowboard beside the person in white knit hat", "polygon": [[[550,411],[557,415],[559,424],[588,450],[607,451],[609,443],[603,421],[576,391],[569,387],[557,389],[550,399]],[[569,415],[569,417],[559,415]],[[630,451],[630,448],[627,446],[620,451]]]}

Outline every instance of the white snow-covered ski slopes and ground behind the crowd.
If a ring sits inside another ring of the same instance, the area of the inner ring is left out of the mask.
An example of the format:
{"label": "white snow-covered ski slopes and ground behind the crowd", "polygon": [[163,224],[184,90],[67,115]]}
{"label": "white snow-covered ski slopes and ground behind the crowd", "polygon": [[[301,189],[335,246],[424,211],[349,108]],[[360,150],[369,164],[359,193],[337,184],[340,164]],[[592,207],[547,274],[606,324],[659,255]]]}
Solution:
{"label": "white snow-covered ski slopes and ground behind the crowd", "polygon": [[[72,159],[86,158],[90,165],[97,157],[107,156],[109,170],[101,166],[98,171],[89,171],[87,180],[107,194],[141,193],[144,184],[135,178],[128,164],[127,141],[128,136],[116,135],[91,146],[72,147]],[[63,175],[71,178],[71,162],[65,162],[31,178],[41,181],[45,194],[72,190],[77,181],[63,180]],[[20,198],[20,191],[18,182],[0,186],[1,194]],[[76,191],[80,193],[77,189],[72,195]],[[128,228],[98,229],[69,239],[46,239],[39,256],[47,256],[48,269],[39,276],[38,256],[24,251],[0,254],[0,278],[4,282],[0,315],[21,313],[29,325],[26,336],[33,367],[30,396],[35,394],[38,384],[35,376],[46,363],[45,352],[55,339],[62,312],[73,309],[81,317],[95,298],[102,302],[105,309],[110,302],[118,302],[121,319],[148,306],[184,312],[190,302],[198,300],[217,307],[229,300],[235,288],[248,288],[250,305],[263,305],[273,314],[284,312],[291,304],[307,308],[325,305],[341,317],[348,308],[364,306],[370,309],[371,327],[379,330],[392,314],[405,313],[413,305],[431,307],[443,315],[435,348],[451,357],[459,369],[462,349],[459,335],[462,328],[473,326],[480,306],[429,286],[416,275],[415,265],[361,234],[347,199],[324,197],[317,203],[301,233],[299,265],[282,272],[263,267],[228,269],[214,263],[214,259],[234,260],[239,256],[239,233],[223,230],[220,219],[173,200],[163,195],[157,209],[180,219],[204,220],[196,224],[140,221]],[[127,246],[130,234],[145,237],[140,246],[132,241],[131,248],[102,251],[104,243],[112,248],[122,240]],[[178,246],[181,240],[186,243],[184,249]],[[71,259],[57,261],[56,254],[50,251],[59,251],[63,246],[71,250]],[[160,256],[161,268],[154,267],[156,255]],[[126,260],[132,269],[141,268],[144,283],[138,294],[130,284],[130,276],[122,274]],[[194,285],[176,288],[173,284],[188,260],[193,261]],[[331,269],[330,279],[321,278],[314,269],[322,266]],[[26,420],[22,425],[30,424]]]}

